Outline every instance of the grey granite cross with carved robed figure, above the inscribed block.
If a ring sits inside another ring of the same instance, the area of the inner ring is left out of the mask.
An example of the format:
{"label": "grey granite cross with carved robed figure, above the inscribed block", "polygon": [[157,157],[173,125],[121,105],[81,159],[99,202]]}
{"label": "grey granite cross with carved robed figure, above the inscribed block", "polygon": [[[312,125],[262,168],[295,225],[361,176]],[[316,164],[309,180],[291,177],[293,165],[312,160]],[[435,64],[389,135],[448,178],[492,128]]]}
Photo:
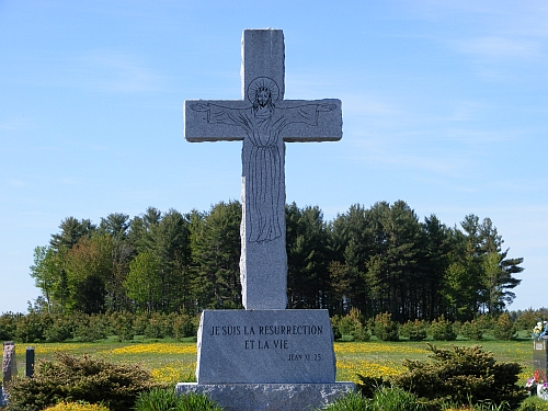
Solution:
{"label": "grey granite cross with carved robed figure, above the inscribed block", "polygon": [[187,100],[192,142],[243,140],[240,277],[248,310],[285,309],[285,144],[342,137],[341,101],[284,100],[284,34],[246,30],[242,100]]}

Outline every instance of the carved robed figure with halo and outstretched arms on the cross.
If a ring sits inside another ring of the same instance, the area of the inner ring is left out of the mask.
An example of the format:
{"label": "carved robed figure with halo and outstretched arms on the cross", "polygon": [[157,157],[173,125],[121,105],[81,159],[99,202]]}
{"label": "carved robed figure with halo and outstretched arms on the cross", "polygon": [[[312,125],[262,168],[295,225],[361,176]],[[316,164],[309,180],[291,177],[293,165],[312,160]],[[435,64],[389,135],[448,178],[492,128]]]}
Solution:
{"label": "carved robed figure with halo and outstretched arms on the cross", "polygon": [[[284,142],[279,134],[295,123],[318,125],[321,112],[336,109],[330,103],[310,103],[296,106],[276,107],[279,90],[276,82],[267,77],[251,81],[248,88],[246,109],[233,109],[215,103],[194,103],[191,109],[207,113],[207,123],[241,127],[248,150],[248,165],[244,173],[250,196],[248,213],[250,227],[247,228],[249,242],[269,242],[284,235],[279,216],[284,215],[285,195],[283,180]],[[281,202],[281,199],[284,199]]]}

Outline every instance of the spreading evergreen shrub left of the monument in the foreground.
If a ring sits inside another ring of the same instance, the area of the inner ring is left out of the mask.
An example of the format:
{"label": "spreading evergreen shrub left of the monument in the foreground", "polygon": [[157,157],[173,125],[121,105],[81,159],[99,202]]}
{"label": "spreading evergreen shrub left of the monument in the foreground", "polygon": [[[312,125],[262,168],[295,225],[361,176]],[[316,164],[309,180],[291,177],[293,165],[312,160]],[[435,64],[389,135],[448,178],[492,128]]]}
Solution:
{"label": "spreading evergreen shrub left of the monument in the foreground", "polygon": [[126,411],[134,407],[139,392],[155,387],[149,372],[136,364],[112,364],[62,353],[56,357],[57,362],[38,361],[33,378],[12,383],[10,410],[38,411],[59,401],[87,401]]}

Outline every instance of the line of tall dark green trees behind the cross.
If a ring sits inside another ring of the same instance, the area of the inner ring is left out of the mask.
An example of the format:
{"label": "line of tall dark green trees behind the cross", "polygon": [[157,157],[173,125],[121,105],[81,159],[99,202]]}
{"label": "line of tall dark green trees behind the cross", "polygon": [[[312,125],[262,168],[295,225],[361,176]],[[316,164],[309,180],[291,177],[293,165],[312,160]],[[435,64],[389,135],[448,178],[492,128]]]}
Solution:
{"label": "line of tall dark green trees behind the cross", "polygon": [[[68,217],[34,250],[31,276],[47,312],[187,312],[241,308],[241,204],[208,212],[149,207]],[[403,201],[351,206],[326,221],[318,206],[286,206],[288,308],[357,309],[395,321],[467,321],[504,311],[521,283],[523,258],[509,258],[489,218],[460,227],[419,220]]]}

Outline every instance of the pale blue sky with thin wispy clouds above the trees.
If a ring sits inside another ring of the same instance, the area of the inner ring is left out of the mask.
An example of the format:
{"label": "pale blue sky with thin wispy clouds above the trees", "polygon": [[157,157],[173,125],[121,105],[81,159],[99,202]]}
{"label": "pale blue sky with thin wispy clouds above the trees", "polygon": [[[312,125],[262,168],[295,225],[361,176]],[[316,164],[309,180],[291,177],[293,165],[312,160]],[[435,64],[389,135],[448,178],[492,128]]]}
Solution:
{"label": "pale blue sky with thin wispy clouds above the trees", "polygon": [[190,144],[186,99],[240,99],[244,28],[284,30],[286,99],[343,102],[343,139],[288,144],[287,201],[327,220],[406,201],[492,219],[548,306],[548,3],[0,0],[0,312],[69,216],[207,210],[240,142]]}

